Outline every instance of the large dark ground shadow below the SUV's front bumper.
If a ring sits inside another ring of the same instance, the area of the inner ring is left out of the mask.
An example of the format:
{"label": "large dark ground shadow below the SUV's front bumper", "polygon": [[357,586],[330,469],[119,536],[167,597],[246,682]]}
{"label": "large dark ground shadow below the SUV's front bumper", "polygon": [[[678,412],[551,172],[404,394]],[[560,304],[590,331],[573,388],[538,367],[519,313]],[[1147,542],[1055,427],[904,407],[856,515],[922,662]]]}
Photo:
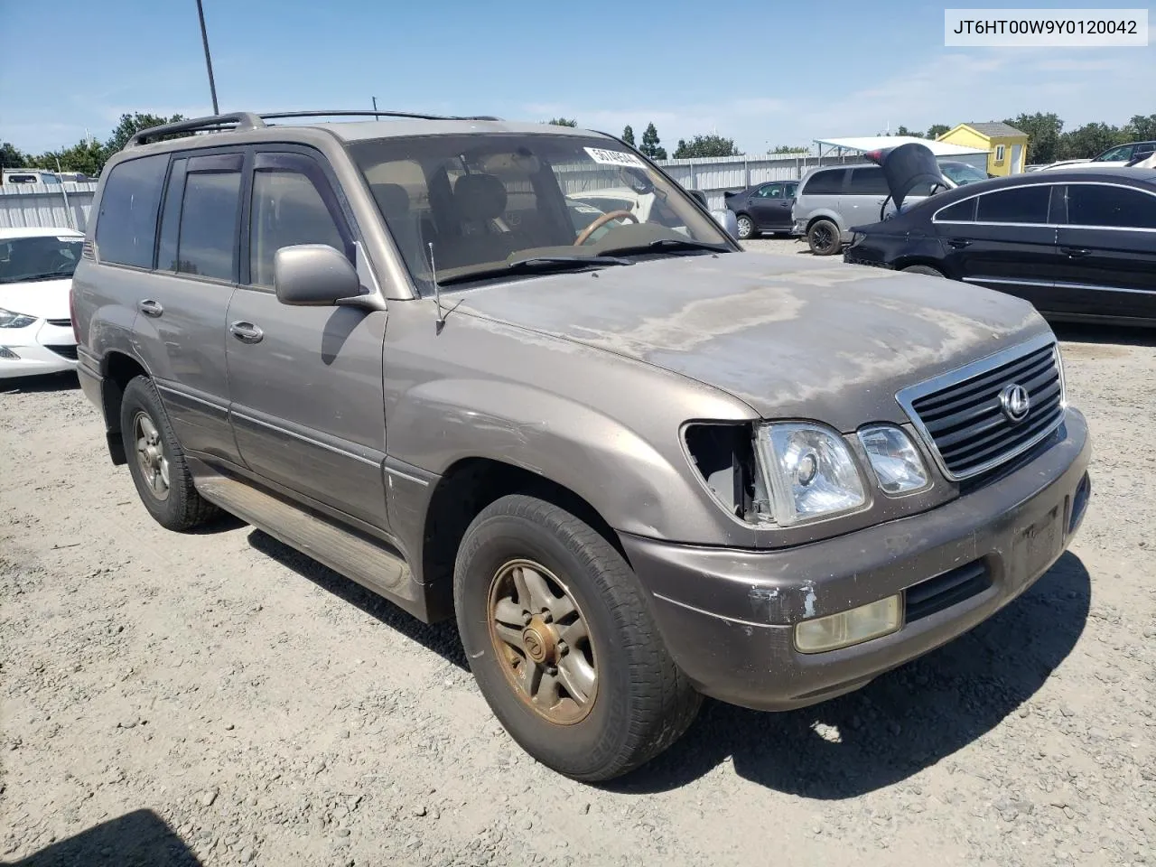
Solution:
{"label": "large dark ground shadow below the SUV's front bumper", "polygon": [[1087,569],[1065,554],[991,620],[861,690],[779,714],[707,702],[683,740],[607,787],[677,788],[728,757],[744,779],[817,800],[898,783],[1030,699],[1075,646],[1090,599]]}

